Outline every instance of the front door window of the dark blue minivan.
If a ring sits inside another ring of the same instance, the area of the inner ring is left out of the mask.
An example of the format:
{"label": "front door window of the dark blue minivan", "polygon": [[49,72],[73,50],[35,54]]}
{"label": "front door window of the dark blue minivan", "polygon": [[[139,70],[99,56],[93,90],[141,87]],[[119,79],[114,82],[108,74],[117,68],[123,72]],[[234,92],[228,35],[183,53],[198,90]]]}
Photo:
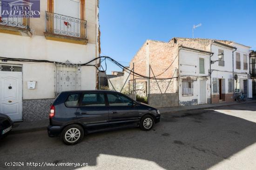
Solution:
{"label": "front door window of the dark blue minivan", "polygon": [[120,94],[107,94],[107,96],[109,106],[131,106],[133,102]]}

